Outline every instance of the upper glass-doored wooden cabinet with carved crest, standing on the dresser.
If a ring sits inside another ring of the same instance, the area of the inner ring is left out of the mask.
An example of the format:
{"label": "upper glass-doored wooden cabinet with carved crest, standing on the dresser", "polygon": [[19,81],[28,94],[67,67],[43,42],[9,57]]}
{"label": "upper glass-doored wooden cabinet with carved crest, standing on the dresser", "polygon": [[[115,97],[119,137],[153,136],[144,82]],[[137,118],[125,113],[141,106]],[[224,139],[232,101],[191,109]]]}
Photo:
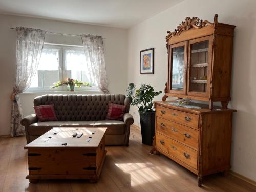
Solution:
{"label": "upper glass-doored wooden cabinet with carved crest, standing on the dresser", "polygon": [[168,31],[168,96],[221,101],[227,109],[230,98],[233,34],[236,26],[187,17],[175,31]]}

